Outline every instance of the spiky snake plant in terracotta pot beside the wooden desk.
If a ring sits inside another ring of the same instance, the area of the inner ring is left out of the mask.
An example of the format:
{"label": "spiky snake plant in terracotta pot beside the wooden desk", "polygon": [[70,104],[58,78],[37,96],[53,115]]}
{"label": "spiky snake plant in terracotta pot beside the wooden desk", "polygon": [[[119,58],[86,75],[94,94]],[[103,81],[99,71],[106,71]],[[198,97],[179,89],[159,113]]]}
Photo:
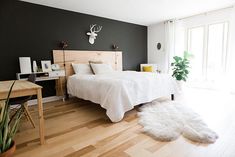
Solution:
{"label": "spiky snake plant in terracotta pot beside the wooden desk", "polygon": [[19,126],[20,119],[23,113],[23,107],[20,106],[16,112],[10,116],[10,94],[15,82],[11,85],[7,99],[4,100],[3,106],[0,109],[0,157],[11,157],[15,152],[15,142],[13,138]]}

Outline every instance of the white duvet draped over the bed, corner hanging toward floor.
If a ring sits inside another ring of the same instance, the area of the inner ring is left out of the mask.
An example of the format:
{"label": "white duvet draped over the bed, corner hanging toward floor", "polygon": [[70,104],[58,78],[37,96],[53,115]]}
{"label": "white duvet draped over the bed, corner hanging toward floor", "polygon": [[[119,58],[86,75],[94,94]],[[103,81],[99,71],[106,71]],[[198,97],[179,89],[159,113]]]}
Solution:
{"label": "white duvet draped over the bed, corner hanging toward floor", "polygon": [[76,74],[69,77],[67,87],[70,95],[100,104],[112,122],[122,120],[135,105],[170,96],[178,89],[169,75],[134,71]]}

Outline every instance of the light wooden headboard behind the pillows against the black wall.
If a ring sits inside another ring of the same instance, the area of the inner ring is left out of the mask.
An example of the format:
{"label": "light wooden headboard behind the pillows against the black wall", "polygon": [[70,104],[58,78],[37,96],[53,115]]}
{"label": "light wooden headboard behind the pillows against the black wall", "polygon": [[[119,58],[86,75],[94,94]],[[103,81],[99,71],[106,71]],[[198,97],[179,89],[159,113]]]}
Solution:
{"label": "light wooden headboard behind the pillows against the black wall", "polygon": [[[54,64],[59,64],[61,69],[65,69],[66,77],[74,74],[72,63],[89,63],[89,61],[102,61],[110,64],[113,69],[122,71],[122,52],[121,51],[78,51],[78,50],[53,50]],[[65,85],[62,80],[63,87]],[[57,88],[58,89],[58,88]],[[58,92],[57,92],[58,93]]]}

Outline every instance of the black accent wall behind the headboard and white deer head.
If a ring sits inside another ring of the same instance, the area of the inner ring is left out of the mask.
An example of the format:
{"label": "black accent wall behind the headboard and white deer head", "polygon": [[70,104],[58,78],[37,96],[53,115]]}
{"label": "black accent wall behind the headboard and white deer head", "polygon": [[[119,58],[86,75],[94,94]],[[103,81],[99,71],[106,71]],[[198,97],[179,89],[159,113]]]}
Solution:
{"label": "black accent wall behind the headboard and white deer head", "polygon": [[[86,35],[90,24],[103,26],[94,45],[89,44]],[[0,80],[15,79],[21,56],[31,57],[38,65],[41,60],[53,60],[52,50],[59,49],[61,40],[67,41],[71,50],[112,50],[112,44],[116,44],[123,52],[125,70],[138,70],[140,63],[147,62],[146,26],[1,0]]]}

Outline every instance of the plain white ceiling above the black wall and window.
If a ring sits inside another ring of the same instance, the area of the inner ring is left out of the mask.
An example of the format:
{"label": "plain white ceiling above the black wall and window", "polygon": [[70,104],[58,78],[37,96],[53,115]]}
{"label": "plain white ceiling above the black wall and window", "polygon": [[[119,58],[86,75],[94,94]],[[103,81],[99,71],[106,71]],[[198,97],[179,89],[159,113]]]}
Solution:
{"label": "plain white ceiling above the black wall and window", "polygon": [[235,4],[235,0],[23,0],[110,19],[151,25]]}

